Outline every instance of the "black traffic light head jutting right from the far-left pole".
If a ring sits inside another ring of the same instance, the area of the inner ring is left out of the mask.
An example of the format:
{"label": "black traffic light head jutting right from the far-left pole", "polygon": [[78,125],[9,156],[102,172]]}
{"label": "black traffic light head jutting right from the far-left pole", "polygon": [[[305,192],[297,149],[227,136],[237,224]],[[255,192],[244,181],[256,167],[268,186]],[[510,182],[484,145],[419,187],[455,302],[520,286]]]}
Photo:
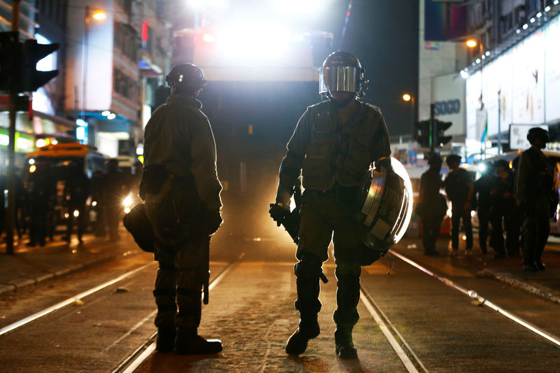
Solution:
{"label": "black traffic light head jutting right from the far-left pole", "polygon": [[58,70],[37,71],[39,60],[57,50],[58,43],[38,44],[36,40],[26,40],[22,45],[22,69],[20,71],[20,92],[33,92],[58,75]]}

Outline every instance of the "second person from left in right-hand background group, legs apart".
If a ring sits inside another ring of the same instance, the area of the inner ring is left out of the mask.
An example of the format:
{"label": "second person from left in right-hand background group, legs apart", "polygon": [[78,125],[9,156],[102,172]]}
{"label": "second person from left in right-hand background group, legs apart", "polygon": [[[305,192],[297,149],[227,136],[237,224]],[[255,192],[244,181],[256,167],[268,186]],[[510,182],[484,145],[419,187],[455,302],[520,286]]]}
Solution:
{"label": "second person from left in right-hand background group, legs apart", "polygon": [[445,178],[445,192],[451,201],[451,248],[456,254],[459,248],[459,226],[463,220],[463,228],[467,237],[466,251],[472,249],[472,224],[470,222],[470,201],[474,190],[467,170],[459,167],[461,156],[451,154],[445,159],[449,174]]}

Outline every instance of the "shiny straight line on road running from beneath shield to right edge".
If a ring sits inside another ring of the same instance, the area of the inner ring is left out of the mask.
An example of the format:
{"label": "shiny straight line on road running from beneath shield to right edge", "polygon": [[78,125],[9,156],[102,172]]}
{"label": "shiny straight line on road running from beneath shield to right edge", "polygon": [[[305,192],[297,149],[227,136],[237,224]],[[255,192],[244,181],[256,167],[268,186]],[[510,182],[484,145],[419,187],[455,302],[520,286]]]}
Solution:
{"label": "shiny straight line on road running from beneath shield to right edge", "polygon": [[486,300],[484,297],[478,295],[478,293],[475,290],[468,290],[467,288],[463,288],[463,286],[454,283],[453,281],[447,279],[446,277],[439,276],[431,272],[429,269],[422,267],[418,263],[414,262],[413,260],[410,260],[409,258],[406,258],[404,255],[400,253],[397,253],[393,250],[389,250],[389,252],[395,255],[397,258],[400,258],[400,260],[407,262],[409,265],[412,265],[412,267],[416,267],[416,269],[419,269],[421,272],[424,272],[425,274],[432,276],[434,279],[442,281],[442,283],[444,283],[445,285],[454,288],[455,290],[458,290],[465,295],[468,295],[468,297],[471,297],[472,299],[479,301],[481,304],[488,307],[489,309],[493,309],[494,311],[498,312],[498,314],[501,314],[509,318],[514,323],[517,323],[523,326],[524,328],[531,330],[531,332],[534,332],[536,335],[540,335],[540,337],[547,339],[547,341],[551,342],[552,344],[555,344],[557,347],[560,347],[560,339],[558,337],[554,337],[553,335],[548,334],[547,332],[541,330],[540,328],[537,328],[535,325],[531,325],[531,323],[528,323],[527,321],[524,321],[522,318],[519,318],[514,314],[506,311],[505,309],[499,307],[497,304],[493,304],[489,300]]}

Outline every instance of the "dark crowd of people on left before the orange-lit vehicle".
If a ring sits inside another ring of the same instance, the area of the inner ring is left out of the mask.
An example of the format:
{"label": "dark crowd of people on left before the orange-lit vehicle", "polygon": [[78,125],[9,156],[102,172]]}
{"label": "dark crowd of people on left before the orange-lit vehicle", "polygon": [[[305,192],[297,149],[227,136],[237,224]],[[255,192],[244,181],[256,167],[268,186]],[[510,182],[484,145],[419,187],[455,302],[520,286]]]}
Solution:
{"label": "dark crowd of people on left before the orange-lit vehicle", "polygon": [[[123,198],[129,192],[137,194],[141,176],[139,171],[125,173],[118,169],[118,161],[107,161],[106,172],[97,171],[88,178],[83,165],[70,163],[59,167],[50,162],[37,162],[20,176],[15,176],[15,229],[21,240],[27,234],[27,246],[45,246],[55,241],[57,227],[62,225],[61,239],[71,241],[77,234],[83,243],[83,234],[91,230],[97,237],[110,241],[118,239]],[[6,190],[6,175],[0,176],[0,188]],[[4,194],[0,194],[0,234],[6,230]],[[90,214],[94,211],[94,214]],[[90,219],[94,216],[94,219]]]}

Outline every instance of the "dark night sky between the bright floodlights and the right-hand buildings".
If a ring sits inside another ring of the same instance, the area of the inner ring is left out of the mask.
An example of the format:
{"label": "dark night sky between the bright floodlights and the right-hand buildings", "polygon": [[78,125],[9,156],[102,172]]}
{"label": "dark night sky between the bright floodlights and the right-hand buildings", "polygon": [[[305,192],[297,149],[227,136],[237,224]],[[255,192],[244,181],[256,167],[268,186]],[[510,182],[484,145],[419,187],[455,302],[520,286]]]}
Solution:
{"label": "dark night sky between the bright floodlights and the right-hand buildings", "polygon": [[[339,3],[344,15],[347,2]],[[341,48],[362,62],[370,80],[365,101],[381,108],[391,136],[409,134],[411,104],[402,94],[417,97],[418,22],[417,0],[355,0]],[[339,38],[340,31],[335,45]]]}

